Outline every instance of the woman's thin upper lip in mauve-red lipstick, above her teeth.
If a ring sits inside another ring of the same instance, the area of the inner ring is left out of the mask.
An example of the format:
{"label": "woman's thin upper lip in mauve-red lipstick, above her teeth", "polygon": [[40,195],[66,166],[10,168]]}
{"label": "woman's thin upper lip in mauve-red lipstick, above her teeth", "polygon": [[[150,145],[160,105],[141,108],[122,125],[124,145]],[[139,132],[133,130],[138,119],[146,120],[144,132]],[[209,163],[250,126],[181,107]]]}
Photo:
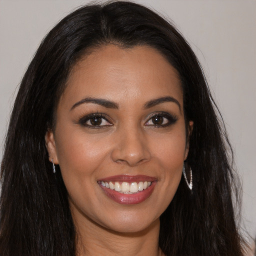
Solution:
{"label": "woman's thin upper lip in mauve-red lipstick, above her teeth", "polygon": [[155,181],[155,177],[150,177],[147,175],[127,175],[127,174],[122,174],[122,175],[114,175],[114,176],[109,176],[109,177],[104,177],[101,179],[98,179],[98,181],[120,181],[120,182],[139,182],[139,181]]}

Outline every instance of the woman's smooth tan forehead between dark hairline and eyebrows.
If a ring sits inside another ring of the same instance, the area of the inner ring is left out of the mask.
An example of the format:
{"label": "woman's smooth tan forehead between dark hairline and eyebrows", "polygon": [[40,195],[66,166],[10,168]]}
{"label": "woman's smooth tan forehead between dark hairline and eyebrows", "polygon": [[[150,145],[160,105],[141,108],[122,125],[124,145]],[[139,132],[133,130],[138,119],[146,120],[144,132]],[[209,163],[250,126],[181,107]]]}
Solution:
{"label": "woman's smooth tan forehead between dark hairline and eyebrows", "polygon": [[177,71],[154,48],[106,45],[82,57],[72,68],[60,101],[85,96],[119,101],[147,101],[174,96],[182,105]]}

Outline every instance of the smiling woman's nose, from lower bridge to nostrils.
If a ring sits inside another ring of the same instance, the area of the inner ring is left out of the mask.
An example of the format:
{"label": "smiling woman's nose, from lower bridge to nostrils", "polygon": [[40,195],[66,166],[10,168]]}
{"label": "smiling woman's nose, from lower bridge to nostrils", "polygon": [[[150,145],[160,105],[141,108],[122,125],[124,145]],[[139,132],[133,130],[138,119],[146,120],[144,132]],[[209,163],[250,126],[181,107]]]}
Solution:
{"label": "smiling woman's nose, from lower bridge to nostrils", "polygon": [[150,159],[150,151],[145,134],[137,129],[121,130],[114,137],[112,160],[135,166]]}

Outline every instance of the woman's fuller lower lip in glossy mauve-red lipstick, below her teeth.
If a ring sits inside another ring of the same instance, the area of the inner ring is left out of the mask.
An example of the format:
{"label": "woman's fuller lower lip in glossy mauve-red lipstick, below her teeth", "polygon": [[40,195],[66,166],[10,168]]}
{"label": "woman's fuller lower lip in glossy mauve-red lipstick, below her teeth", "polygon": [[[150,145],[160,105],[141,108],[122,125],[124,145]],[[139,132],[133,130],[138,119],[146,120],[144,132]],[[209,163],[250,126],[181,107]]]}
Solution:
{"label": "woman's fuller lower lip in glossy mauve-red lipstick, below her teeth", "polygon": [[115,191],[114,189],[106,188],[101,185],[100,187],[103,189],[105,194],[115,202],[118,202],[120,204],[137,204],[137,203],[143,202],[151,195],[155,184],[156,182],[154,181],[146,189],[143,189],[142,191],[138,191],[137,193],[134,193],[134,194],[123,194]]}

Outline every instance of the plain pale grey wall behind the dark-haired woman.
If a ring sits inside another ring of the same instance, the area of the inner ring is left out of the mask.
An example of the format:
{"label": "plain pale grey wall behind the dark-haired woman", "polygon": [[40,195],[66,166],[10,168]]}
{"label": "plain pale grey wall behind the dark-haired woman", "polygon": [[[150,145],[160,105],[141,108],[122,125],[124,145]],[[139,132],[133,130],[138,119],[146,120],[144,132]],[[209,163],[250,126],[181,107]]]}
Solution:
{"label": "plain pale grey wall behind the dark-haired woman", "polygon": [[[86,0],[0,0],[0,159],[16,88],[47,31]],[[96,2],[96,1],[90,1]],[[243,180],[256,236],[256,0],[137,0],[172,19],[199,58]]]}

